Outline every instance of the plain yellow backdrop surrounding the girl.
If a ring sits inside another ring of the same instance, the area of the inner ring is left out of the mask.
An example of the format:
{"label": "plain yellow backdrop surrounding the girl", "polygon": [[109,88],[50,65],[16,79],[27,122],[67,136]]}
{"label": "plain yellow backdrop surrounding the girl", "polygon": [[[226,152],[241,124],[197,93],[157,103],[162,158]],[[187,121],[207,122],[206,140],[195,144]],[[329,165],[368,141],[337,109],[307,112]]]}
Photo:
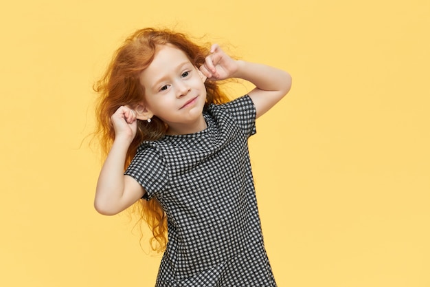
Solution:
{"label": "plain yellow backdrop surrounding the girl", "polygon": [[428,0],[3,3],[0,286],[153,286],[133,222],[93,209],[85,139],[93,82],[152,25],[293,75],[250,141],[278,286],[430,286]]}

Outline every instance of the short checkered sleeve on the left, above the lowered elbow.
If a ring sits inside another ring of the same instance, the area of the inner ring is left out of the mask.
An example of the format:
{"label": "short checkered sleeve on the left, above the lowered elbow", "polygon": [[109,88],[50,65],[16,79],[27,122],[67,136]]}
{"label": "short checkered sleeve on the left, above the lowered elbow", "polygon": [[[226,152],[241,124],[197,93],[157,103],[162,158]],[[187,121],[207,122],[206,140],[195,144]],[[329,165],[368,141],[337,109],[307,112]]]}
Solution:
{"label": "short checkered sleeve on the left, above the lowered elbow", "polygon": [[139,182],[146,191],[146,200],[160,197],[168,185],[166,160],[154,148],[141,146],[125,173]]}

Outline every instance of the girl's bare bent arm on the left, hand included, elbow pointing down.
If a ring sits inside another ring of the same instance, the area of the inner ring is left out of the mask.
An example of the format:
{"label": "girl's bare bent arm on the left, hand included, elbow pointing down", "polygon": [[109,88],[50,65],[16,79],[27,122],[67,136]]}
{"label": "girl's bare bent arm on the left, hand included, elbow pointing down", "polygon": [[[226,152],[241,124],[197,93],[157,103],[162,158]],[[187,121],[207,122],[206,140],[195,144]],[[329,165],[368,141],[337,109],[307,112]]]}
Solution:
{"label": "girl's bare bent arm on the left, hand included, elbow pointing down", "polygon": [[111,117],[115,140],[103,164],[95,190],[94,207],[104,215],[114,215],[142,198],[143,187],[131,176],[124,176],[127,149],[136,135],[136,115],[120,107]]}

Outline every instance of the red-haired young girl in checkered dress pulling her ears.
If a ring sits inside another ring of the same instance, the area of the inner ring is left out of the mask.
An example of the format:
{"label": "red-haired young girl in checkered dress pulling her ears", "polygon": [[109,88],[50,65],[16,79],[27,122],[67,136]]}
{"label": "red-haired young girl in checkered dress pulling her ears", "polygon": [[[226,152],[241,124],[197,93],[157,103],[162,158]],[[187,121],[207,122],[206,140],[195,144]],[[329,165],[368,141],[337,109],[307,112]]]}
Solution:
{"label": "red-haired young girl in checkered dress pulling her ears", "polygon": [[[227,78],[256,87],[228,102],[217,86]],[[107,157],[95,209],[142,204],[165,249],[156,286],[276,286],[247,140],[290,87],[282,70],[170,30],[138,30],[117,50],[96,86]]]}

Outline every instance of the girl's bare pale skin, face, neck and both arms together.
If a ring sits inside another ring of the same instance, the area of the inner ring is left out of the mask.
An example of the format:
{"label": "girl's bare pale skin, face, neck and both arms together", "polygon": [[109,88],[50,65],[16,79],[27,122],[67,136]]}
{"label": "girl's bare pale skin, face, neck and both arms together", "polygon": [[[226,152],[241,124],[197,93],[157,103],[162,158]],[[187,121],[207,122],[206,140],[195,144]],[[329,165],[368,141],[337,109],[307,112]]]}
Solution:
{"label": "girl's bare pale skin, face, neck and both arms together", "polygon": [[[141,84],[146,89],[146,104],[139,103],[133,109],[119,107],[111,116],[115,140],[100,171],[95,191],[94,206],[99,213],[120,213],[142,198],[146,192],[134,178],[124,176],[123,170],[126,152],[136,135],[137,119],[148,120],[152,116],[166,119],[165,122],[169,125],[168,134],[190,134],[205,129],[201,114],[205,90],[202,90],[201,84],[206,79],[220,81],[242,78],[253,83],[256,87],[248,95],[256,107],[257,118],[269,111],[291,88],[291,76],[287,72],[268,65],[231,59],[217,44],[212,45],[210,54],[199,70],[185,63],[184,55],[172,45],[161,47],[140,77]],[[169,57],[173,59],[169,62],[172,67],[166,67],[163,63],[164,59]],[[175,66],[175,63],[178,65]],[[161,78],[157,78],[154,72],[159,72]],[[160,96],[160,93],[164,93],[164,96]],[[159,98],[168,100],[168,105],[173,107],[172,112],[166,113],[166,109],[157,109]],[[176,110],[176,107],[179,109]],[[177,120],[177,114],[174,113],[178,114]]]}

